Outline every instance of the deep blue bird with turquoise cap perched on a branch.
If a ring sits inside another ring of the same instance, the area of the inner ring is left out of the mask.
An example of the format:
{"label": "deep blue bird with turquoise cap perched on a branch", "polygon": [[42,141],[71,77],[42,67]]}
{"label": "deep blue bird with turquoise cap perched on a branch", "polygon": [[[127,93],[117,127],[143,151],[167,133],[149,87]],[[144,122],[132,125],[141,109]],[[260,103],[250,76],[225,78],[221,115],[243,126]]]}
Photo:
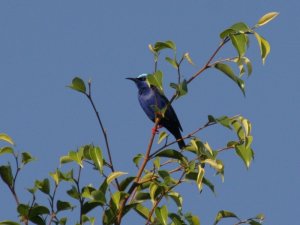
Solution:
{"label": "deep blue bird with turquoise cap perched on a branch", "polygon": [[[136,78],[128,77],[126,79],[133,81],[138,88],[139,103],[152,122],[155,122],[155,108],[164,109],[169,104],[167,97],[153,85],[148,85],[146,79],[148,74],[141,74]],[[180,149],[186,145],[182,139],[182,127],[172,105],[169,105],[163,117],[160,118],[159,126],[166,128],[177,140]]]}

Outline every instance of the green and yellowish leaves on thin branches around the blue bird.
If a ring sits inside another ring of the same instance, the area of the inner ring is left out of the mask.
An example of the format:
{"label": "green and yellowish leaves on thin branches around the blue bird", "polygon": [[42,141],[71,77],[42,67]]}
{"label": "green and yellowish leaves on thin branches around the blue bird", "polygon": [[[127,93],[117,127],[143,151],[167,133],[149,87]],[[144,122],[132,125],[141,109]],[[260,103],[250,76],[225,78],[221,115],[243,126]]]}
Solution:
{"label": "green and yellowish leaves on thin branches around the blue bird", "polygon": [[[164,75],[163,71],[158,69],[158,61],[162,51],[171,50],[172,56],[167,56],[165,60],[177,70],[177,79],[176,82],[170,84],[170,87],[175,91],[170,104],[188,94],[189,83],[210,68],[216,69],[230,78],[245,95],[244,74],[250,76],[252,73],[251,61],[246,57],[250,45],[249,38],[252,35],[258,41],[260,57],[262,62],[265,63],[270,53],[270,44],[257,33],[257,28],[264,26],[277,15],[278,13],[275,12],[268,13],[253,27],[239,22],[225,29],[220,33],[221,43],[218,48],[209,57],[205,65],[189,79],[182,79],[181,76],[183,62],[195,65],[189,53],[184,53],[178,57],[176,44],[170,40],[149,45],[149,49],[154,56],[154,72],[147,77],[148,84],[156,86],[162,92],[164,91]],[[237,55],[214,61],[215,56],[227,43],[231,43]],[[237,74],[232,69],[232,65],[237,66]],[[183,139],[189,140],[189,145],[185,149],[181,151],[175,149],[174,144],[176,141],[170,141],[168,134],[164,131],[158,137],[160,147],[154,149],[156,134],[153,133],[145,153],[140,153],[133,158],[133,162],[138,168],[137,174],[127,175],[126,172],[117,171],[114,169],[104,125],[93,102],[91,82],[89,81],[86,84],[81,78],[76,77],[68,87],[83,94],[90,101],[105,139],[107,158],[104,158],[102,148],[92,144],[86,144],[75,151],[69,151],[60,158],[60,164],[62,166],[71,164],[72,169],[65,172],[62,169],[56,169],[50,173],[51,179],[36,180],[33,187],[27,189],[31,195],[31,200],[23,203],[20,202],[19,194],[16,192],[16,180],[20,171],[33,162],[35,158],[29,152],[18,153],[15,151],[12,138],[7,134],[0,134],[0,141],[7,145],[0,148],[0,156],[9,154],[15,161],[15,166],[12,166],[11,163],[1,165],[0,176],[15,198],[17,213],[20,218],[19,223],[6,220],[1,221],[0,224],[15,225],[31,222],[40,225],[64,225],[67,224],[70,216],[65,217],[63,212],[72,211],[75,207],[78,207],[80,215],[77,224],[95,224],[96,218],[90,216],[90,212],[95,208],[101,208],[103,211],[102,223],[105,225],[121,224],[122,218],[129,211],[135,211],[137,215],[144,218],[145,224],[198,225],[200,224],[198,216],[190,212],[184,212],[183,197],[178,192],[177,187],[183,183],[192,182],[196,184],[199,192],[203,192],[204,187],[215,192],[215,186],[210,181],[206,171],[211,168],[216,175],[220,176],[222,180],[224,179],[225,167],[220,155],[225,151],[235,151],[246,168],[251,165],[254,151],[252,149],[253,137],[250,121],[241,115],[231,117],[209,115],[204,125],[183,137]],[[155,129],[158,127],[159,120],[160,118],[156,118]],[[210,126],[222,126],[224,129],[235,133],[236,138],[228,140],[225,146],[221,148],[212,147],[208,142],[196,136],[197,133]],[[88,166],[91,166],[93,171],[101,178],[99,186],[81,184],[81,172],[83,169],[87,169]],[[67,195],[60,195],[63,199],[57,196],[57,191],[62,183],[69,186],[66,191]],[[48,205],[41,204],[41,201],[37,200],[38,192],[48,199]],[[167,199],[172,200],[177,211],[170,211],[171,207],[169,205],[171,202],[168,205],[164,204],[164,200]],[[77,202],[76,205],[72,204],[74,201]],[[219,224],[224,218],[236,219],[238,221],[236,224],[259,225],[264,220],[264,215],[259,214],[256,217],[243,220],[233,212],[221,210],[217,213],[214,224]]]}

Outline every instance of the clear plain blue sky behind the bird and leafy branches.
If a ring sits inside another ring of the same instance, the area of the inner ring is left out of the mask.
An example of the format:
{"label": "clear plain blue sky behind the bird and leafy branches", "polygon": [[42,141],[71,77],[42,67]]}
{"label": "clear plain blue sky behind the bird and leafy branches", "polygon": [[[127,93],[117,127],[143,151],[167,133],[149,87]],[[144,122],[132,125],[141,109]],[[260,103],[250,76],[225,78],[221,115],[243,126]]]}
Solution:
{"label": "clear plain blue sky behind the bird and leafy branches", "polygon": [[[14,139],[17,151],[29,151],[37,158],[20,174],[21,200],[30,199],[26,188],[35,179],[49,177],[59,167],[59,157],[69,150],[89,143],[105,149],[87,99],[66,87],[75,76],[92,80],[115,167],[133,175],[132,158],[145,151],[152,123],[138,104],[136,87],[125,78],[153,71],[148,44],[173,40],[178,53],[189,52],[196,64],[183,66],[183,76],[189,78],[216,49],[221,31],[240,21],[254,25],[265,13],[276,11],[280,15],[258,30],[271,44],[265,65],[256,41],[250,40],[248,56],[254,69],[246,79],[246,97],[223,74],[209,70],[191,83],[187,96],[173,104],[183,134],[203,125],[210,114],[248,118],[253,124],[253,164],[247,170],[233,152],[226,152],[221,156],[224,183],[210,175],[216,195],[208,189],[199,194],[196,185],[180,190],[184,210],[199,215],[201,224],[213,224],[220,209],[242,218],[264,213],[264,224],[296,224],[300,213],[299,8],[296,0],[242,4],[238,0],[2,0],[0,133]],[[234,53],[226,46],[217,58]],[[168,83],[175,79],[175,71],[163,61],[160,65],[170,97]],[[219,148],[232,133],[211,127],[198,136]],[[0,163],[8,160],[1,157]],[[93,172],[84,177],[87,183],[98,179]],[[16,220],[14,200],[3,183],[0,199],[0,221]],[[100,224],[99,215],[96,220]],[[133,213],[124,218],[124,224],[143,222]]]}

